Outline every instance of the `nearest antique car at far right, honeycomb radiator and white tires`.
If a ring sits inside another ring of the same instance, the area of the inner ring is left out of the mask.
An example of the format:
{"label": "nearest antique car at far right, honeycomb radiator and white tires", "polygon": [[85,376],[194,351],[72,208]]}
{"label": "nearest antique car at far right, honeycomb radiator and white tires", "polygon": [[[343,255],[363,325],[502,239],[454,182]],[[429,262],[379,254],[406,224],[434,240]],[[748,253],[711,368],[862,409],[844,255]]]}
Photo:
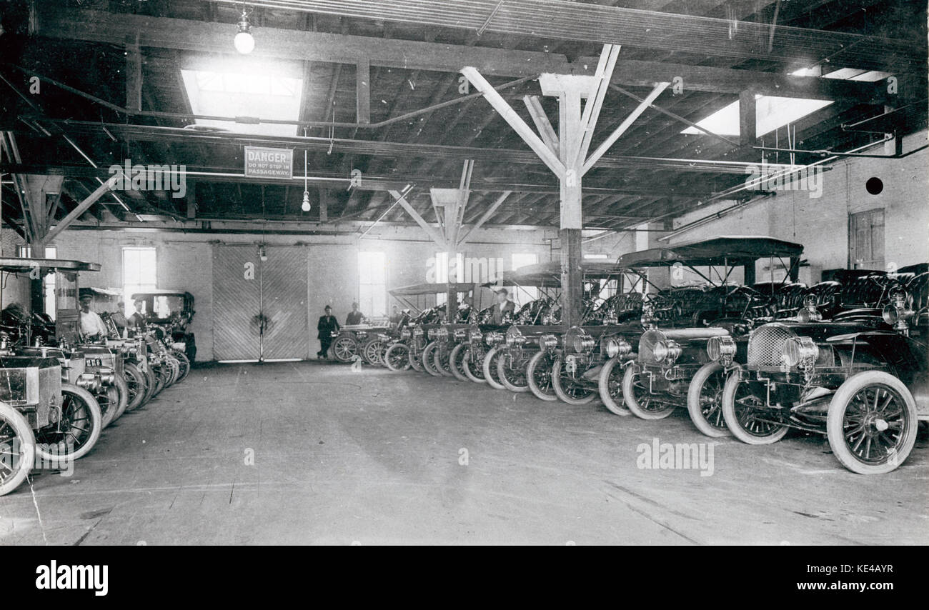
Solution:
{"label": "nearest antique car at far right, honeycomb radiator and white tires", "polygon": [[[723,388],[723,416],[739,440],[779,441],[790,429],[826,435],[857,474],[906,461],[929,421],[929,274],[897,280],[887,303],[824,321],[771,322],[749,335],[747,363]],[[812,312],[811,312],[812,313]]]}

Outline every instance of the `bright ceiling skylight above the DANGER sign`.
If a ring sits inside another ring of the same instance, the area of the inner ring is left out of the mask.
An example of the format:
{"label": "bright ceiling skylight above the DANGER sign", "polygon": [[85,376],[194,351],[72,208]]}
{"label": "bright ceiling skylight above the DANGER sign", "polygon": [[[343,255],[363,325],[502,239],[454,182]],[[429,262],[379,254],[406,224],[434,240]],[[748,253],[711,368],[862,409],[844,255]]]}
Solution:
{"label": "bright ceiling skylight above the DANGER sign", "polygon": [[[303,79],[235,71],[181,70],[194,114],[277,121],[300,118]],[[232,123],[197,119],[198,125],[238,134],[296,136],[295,124]]]}

